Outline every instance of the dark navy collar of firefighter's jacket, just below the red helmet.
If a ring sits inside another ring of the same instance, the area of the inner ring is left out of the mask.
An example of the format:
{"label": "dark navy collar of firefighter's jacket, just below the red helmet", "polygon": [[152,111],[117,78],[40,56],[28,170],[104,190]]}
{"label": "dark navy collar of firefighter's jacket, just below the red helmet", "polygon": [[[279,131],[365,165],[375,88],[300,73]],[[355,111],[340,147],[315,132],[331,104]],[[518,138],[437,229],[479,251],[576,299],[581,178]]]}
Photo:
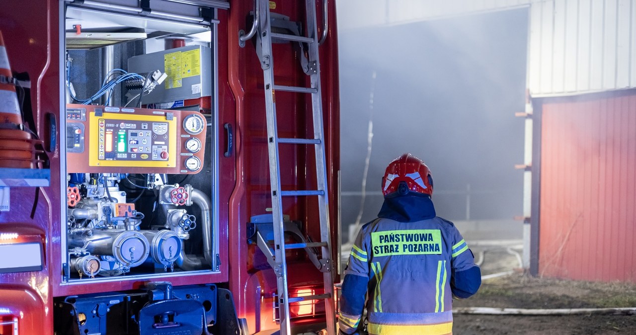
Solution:
{"label": "dark navy collar of firefighter's jacket, just below the red helmet", "polygon": [[435,217],[435,207],[428,196],[385,198],[378,217],[399,222],[416,222]]}

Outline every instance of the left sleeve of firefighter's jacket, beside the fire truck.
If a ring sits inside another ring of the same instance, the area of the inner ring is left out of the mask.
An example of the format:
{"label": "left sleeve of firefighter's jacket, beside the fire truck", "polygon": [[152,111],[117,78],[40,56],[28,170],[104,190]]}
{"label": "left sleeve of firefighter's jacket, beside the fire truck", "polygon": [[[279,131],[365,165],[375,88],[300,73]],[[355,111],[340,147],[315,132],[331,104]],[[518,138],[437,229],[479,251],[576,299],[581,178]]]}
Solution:
{"label": "left sleeve of firefighter's jacket, beside the fire truck", "polygon": [[342,282],[342,296],[340,296],[340,315],[338,326],[340,334],[353,334],[360,324],[364,310],[367,284],[369,282],[368,241],[360,229],[354,243],[349,263]]}

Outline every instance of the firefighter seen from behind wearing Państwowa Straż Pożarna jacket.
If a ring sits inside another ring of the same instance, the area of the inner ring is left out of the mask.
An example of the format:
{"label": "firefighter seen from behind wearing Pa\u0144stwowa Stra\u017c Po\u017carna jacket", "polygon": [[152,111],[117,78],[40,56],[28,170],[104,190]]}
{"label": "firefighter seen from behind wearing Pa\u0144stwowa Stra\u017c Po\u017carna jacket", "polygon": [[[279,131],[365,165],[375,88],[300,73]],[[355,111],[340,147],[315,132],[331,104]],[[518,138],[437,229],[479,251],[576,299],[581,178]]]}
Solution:
{"label": "firefighter seen from behind wearing Pa\u0144stwowa Stra\u017c Po\u017carna jacket", "polygon": [[384,204],[349,256],[340,298],[340,334],[451,334],[452,298],[481,285],[473,252],[452,222],[436,216],[431,171],[403,154],[382,178]]}

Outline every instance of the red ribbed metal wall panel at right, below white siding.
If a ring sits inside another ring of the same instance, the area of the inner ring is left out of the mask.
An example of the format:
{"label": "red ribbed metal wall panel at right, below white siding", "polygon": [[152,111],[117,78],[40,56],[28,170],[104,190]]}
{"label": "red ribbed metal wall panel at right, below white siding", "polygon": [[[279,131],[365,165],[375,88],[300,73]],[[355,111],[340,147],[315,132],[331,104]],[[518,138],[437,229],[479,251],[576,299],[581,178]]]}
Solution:
{"label": "red ribbed metal wall panel at right, below white siding", "polygon": [[636,90],[540,104],[538,274],[636,282]]}

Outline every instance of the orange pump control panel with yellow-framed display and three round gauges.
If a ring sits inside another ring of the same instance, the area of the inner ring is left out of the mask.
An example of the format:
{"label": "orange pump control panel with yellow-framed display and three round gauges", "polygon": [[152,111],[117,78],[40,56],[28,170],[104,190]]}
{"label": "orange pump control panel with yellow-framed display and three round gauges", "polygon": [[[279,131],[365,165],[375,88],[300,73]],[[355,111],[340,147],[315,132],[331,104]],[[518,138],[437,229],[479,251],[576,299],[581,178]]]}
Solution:
{"label": "orange pump control panel with yellow-framed display and three round gauges", "polygon": [[70,173],[196,174],[207,121],[196,111],[67,105]]}

